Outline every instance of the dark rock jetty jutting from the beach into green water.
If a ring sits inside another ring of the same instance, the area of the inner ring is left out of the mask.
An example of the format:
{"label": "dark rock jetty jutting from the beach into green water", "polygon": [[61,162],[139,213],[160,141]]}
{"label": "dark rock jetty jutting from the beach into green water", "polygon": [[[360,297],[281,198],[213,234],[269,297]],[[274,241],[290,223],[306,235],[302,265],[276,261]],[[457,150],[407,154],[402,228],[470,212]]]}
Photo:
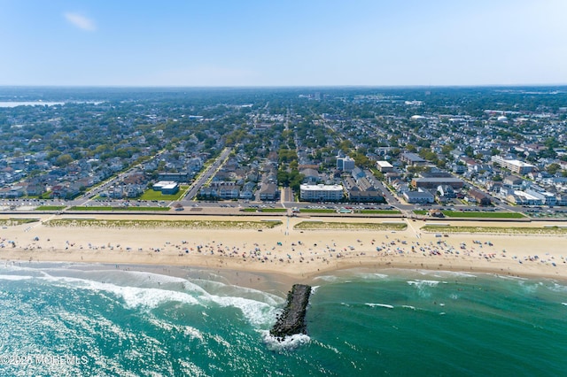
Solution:
{"label": "dark rock jetty jutting from the beach into green water", "polygon": [[283,313],[278,317],[276,325],[270,330],[270,335],[279,341],[288,335],[307,334],[305,315],[311,287],[305,284],[294,284],[287,294],[287,303]]}

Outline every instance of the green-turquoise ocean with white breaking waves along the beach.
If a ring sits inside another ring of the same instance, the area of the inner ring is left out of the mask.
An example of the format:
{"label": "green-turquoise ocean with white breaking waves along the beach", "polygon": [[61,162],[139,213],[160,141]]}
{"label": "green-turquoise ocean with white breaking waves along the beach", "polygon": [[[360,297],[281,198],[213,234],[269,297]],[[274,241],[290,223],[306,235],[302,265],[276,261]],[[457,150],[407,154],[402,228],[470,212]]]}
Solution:
{"label": "green-turquoise ocean with white breaking waves along the beach", "polygon": [[268,330],[285,284],[269,278],[252,289],[195,268],[5,264],[0,375],[567,374],[565,281],[348,270],[310,283],[308,334],[280,343]]}

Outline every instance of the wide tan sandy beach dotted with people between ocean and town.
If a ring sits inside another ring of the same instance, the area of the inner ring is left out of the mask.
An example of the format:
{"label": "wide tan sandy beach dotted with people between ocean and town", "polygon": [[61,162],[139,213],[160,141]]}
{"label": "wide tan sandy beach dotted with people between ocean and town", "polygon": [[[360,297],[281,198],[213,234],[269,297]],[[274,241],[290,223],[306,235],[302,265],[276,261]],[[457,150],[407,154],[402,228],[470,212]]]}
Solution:
{"label": "wide tan sandy beach dotted with people between ocean and town", "polygon": [[[323,222],[405,221],[402,231],[299,230],[304,218],[270,217],[273,228],[51,227],[65,216],[0,216],[40,221],[0,229],[4,263],[79,262],[115,265],[179,265],[247,273],[277,273],[294,281],[348,268],[405,268],[541,276],[567,280],[567,235],[493,235],[426,233],[424,221],[408,219],[311,218]],[[148,219],[142,215],[84,215],[74,219]],[[152,216],[152,220],[172,220]],[[254,217],[175,216],[175,220],[260,221]],[[482,227],[545,227],[564,223],[459,221]]]}

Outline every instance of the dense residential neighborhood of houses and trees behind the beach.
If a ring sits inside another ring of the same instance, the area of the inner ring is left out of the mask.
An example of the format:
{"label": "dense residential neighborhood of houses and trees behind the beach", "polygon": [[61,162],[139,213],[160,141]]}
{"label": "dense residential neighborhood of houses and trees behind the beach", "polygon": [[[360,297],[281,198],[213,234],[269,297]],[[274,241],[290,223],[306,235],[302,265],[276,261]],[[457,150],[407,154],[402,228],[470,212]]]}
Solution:
{"label": "dense residential neighborhood of houses and trees behind the beach", "polygon": [[2,199],[567,205],[562,88],[19,91],[34,105],[0,93]]}

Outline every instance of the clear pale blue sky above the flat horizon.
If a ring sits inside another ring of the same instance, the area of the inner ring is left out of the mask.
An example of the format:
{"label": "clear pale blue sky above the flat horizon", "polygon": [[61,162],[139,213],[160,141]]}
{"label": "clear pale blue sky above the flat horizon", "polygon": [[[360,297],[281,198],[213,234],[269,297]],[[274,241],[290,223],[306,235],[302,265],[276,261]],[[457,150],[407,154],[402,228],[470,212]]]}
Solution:
{"label": "clear pale blue sky above the flat horizon", "polygon": [[0,86],[567,84],[567,0],[0,0]]}

